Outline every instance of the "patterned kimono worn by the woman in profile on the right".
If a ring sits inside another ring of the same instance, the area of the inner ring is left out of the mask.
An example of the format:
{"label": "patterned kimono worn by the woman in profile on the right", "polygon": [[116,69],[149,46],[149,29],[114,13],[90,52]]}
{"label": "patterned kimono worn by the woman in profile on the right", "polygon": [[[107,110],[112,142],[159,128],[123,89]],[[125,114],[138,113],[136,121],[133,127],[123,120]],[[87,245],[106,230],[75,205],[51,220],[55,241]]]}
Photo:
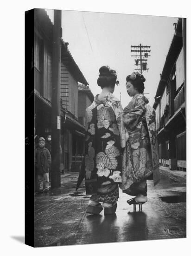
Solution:
{"label": "patterned kimono worn by the woman in profile on the right", "polygon": [[123,110],[129,137],[123,152],[121,189],[127,194],[132,184],[145,181],[152,174],[154,185],[159,182],[155,111],[147,103],[143,94],[136,94]]}

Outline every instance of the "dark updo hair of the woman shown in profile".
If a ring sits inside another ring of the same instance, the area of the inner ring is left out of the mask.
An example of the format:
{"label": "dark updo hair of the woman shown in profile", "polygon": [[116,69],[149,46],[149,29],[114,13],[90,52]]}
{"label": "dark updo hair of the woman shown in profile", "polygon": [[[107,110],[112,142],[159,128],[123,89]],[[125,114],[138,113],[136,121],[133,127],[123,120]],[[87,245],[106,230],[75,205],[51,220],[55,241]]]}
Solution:
{"label": "dark updo hair of the woman shown in profile", "polygon": [[139,72],[133,72],[132,74],[127,75],[126,81],[132,83],[134,88],[136,88],[140,94],[144,92],[144,82],[146,79]]}

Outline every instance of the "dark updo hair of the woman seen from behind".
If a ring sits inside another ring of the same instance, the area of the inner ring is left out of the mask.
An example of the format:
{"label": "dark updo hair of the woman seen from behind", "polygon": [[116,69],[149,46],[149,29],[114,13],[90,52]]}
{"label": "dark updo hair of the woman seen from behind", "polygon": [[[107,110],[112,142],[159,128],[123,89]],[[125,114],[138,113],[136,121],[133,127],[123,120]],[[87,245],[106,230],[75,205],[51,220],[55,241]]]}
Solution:
{"label": "dark updo hair of the woman seen from behind", "polygon": [[114,69],[111,69],[108,66],[102,66],[99,69],[99,78],[97,79],[97,84],[101,88],[108,87],[108,86],[115,86],[119,84],[117,81],[117,74]]}

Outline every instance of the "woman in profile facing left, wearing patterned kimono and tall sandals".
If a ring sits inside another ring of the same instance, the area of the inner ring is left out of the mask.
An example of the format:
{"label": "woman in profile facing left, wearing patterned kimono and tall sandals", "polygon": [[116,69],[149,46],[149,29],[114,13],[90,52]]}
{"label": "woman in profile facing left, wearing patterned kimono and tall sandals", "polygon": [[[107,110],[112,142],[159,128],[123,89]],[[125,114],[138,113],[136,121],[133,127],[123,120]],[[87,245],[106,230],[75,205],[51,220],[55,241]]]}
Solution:
{"label": "woman in profile facing left, wearing patterned kimono and tall sandals", "polygon": [[121,121],[127,129],[128,139],[123,151],[121,189],[135,195],[128,204],[147,202],[147,179],[159,182],[159,156],[155,125],[155,111],[147,106],[143,95],[145,78],[134,72],[126,78],[126,88],[133,97],[123,110]]}

